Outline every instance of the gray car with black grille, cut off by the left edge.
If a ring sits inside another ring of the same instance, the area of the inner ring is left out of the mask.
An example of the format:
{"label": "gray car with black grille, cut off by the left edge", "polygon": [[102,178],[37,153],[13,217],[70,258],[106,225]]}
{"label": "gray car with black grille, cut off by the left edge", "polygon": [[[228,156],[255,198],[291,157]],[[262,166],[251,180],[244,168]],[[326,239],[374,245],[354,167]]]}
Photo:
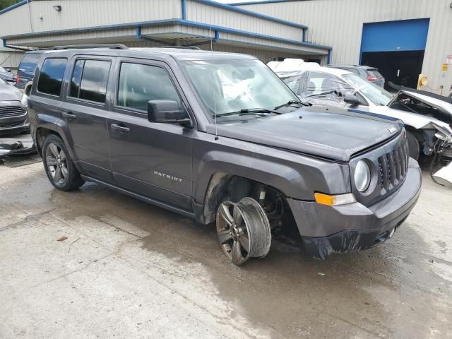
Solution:
{"label": "gray car with black grille, cut off by the left edge", "polygon": [[29,130],[27,95],[0,78],[0,133]]}

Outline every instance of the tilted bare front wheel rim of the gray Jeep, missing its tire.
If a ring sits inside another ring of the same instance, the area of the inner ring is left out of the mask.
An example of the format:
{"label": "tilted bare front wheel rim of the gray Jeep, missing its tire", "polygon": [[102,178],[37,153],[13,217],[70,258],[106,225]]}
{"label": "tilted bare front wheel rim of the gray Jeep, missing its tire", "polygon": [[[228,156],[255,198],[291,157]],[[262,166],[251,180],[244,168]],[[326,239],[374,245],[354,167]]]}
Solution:
{"label": "tilted bare front wheel rim of the gray Jeep, missing its tire", "polygon": [[253,198],[221,203],[216,224],[221,248],[234,265],[240,266],[249,258],[263,258],[270,251],[270,222]]}

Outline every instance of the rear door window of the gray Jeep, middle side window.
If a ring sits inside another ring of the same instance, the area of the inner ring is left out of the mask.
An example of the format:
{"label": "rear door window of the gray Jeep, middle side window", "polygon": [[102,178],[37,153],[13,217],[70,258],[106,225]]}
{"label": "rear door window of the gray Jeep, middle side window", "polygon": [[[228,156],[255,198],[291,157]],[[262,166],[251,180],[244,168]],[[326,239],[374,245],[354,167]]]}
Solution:
{"label": "rear door window of the gray Jeep, middle side window", "polygon": [[72,72],[69,96],[105,102],[110,66],[110,61],[77,60]]}

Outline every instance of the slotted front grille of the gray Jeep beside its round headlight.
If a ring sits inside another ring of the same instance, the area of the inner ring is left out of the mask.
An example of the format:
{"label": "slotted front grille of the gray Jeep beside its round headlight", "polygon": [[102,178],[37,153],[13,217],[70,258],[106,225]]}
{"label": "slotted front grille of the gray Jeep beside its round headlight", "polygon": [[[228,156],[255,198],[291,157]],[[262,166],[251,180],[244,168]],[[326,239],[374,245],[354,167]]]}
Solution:
{"label": "slotted front grille of the gray Jeep beside its round headlight", "polygon": [[383,154],[378,158],[381,194],[392,191],[403,182],[408,171],[409,157],[408,141],[405,138],[391,152]]}

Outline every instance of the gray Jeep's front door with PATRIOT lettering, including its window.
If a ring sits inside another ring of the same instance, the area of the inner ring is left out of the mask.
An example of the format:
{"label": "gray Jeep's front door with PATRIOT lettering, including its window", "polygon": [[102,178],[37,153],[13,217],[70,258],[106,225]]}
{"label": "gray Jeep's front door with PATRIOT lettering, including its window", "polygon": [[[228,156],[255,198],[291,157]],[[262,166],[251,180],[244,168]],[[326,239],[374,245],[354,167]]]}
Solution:
{"label": "gray Jeep's front door with PATRIOT lettering, including its window", "polygon": [[122,59],[108,119],[113,177],[118,186],[191,210],[194,129],[148,121],[149,100],[174,100],[188,107],[171,71],[157,61]]}

